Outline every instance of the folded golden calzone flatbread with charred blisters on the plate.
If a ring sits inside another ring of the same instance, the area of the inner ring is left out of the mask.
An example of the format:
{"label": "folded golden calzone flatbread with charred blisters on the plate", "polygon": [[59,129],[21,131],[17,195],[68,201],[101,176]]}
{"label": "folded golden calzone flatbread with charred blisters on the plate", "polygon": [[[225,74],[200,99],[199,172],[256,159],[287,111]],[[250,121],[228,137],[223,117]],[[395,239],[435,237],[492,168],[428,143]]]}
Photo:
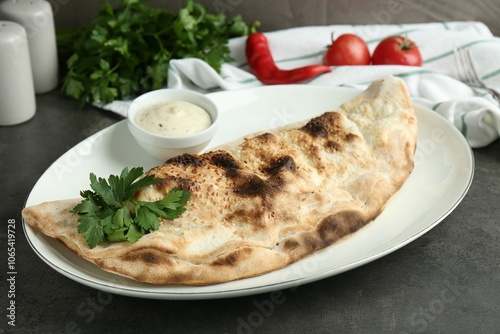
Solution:
{"label": "folded golden calzone flatbread with charred blisters on the plate", "polygon": [[[215,284],[261,275],[332,245],[373,221],[413,170],[417,119],[401,79],[387,76],[305,125],[227,150],[180,155],[148,173],[191,193],[158,231],[90,249],[78,234],[81,199],[23,210],[28,225],[100,268],[154,284]],[[397,222],[394,222],[397,224]]]}

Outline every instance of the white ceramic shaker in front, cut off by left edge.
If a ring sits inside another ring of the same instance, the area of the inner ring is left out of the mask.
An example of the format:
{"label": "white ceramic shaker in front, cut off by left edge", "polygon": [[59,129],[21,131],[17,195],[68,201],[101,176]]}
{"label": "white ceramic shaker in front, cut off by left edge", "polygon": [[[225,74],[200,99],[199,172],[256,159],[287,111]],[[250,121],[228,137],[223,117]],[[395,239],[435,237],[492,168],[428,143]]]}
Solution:
{"label": "white ceramic shaker in front, cut off by left edge", "polygon": [[35,115],[35,89],[26,31],[0,21],[0,125],[15,125]]}

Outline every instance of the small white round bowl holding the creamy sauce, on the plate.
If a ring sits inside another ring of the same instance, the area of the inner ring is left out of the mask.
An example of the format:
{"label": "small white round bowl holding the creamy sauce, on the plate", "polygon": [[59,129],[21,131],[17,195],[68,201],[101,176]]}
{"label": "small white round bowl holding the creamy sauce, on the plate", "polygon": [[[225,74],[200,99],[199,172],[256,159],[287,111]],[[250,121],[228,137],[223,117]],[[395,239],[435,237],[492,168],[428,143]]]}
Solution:
{"label": "small white round bowl holding the creamy sauce, on the plate", "polygon": [[[146,131],[135,122],[140,110],[162,102],[186,101],[205,109],[212,124],[205,130],[186,136],[162,136]],[[201,152],[217,132],[219,110],[217,105],[203,94],[183,89],[159,89],[137,97],[128,108],[127,124],[137,143],[159,160],[168,160],[183,153]]]}

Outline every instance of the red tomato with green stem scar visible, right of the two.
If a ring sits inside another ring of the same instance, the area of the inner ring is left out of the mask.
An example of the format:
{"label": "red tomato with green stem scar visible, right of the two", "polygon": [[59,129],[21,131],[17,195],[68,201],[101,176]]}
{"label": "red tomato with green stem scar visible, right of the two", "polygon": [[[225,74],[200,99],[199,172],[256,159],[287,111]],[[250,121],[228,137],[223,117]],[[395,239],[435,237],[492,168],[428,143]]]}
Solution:
{"label": "red tomato with green stem scar visible, right of the two", "polygon": [[422,66],[418,46],[403,36],[391,36],[382,40],[373,51],[373,65]]}

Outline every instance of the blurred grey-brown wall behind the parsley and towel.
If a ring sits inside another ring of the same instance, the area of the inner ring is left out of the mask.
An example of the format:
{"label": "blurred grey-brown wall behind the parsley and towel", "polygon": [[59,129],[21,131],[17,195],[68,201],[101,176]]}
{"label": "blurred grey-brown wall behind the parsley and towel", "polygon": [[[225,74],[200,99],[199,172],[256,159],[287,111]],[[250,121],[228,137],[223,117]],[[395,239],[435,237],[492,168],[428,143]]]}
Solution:
{"label": "blurred grey-brown wall behind the parsley and towel", "polygon": [[[84,25],[98,13],[100,0],[50,0],[61,27]],[[261,31],[330,24],[399,24],[482,21],[500,36],[498,0],[199,0],[212,13],[242,14],[259,21]],[[117,0],[110,3],[116,4]],[[150,0],[153,7],[173,12],[182,0]],[[397,14],[391,14],[397,13]]]}

